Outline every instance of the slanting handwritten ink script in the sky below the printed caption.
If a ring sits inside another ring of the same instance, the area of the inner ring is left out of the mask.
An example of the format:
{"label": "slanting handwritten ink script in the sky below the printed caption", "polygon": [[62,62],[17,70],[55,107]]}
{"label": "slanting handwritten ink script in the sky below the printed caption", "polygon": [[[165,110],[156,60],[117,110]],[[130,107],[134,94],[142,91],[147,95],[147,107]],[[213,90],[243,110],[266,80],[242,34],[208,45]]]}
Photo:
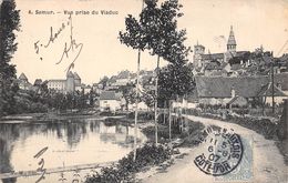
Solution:
{"label": "slanting handwritten ink script in the sky below the printed caption", "polygon": [[[60,64],[64,58],[66,59],[71,59],[70,55],[72,53],[74,53],[74,57],[70,60],[70,64],[69,67],[65,69],[65,71],[69,71],[70,69],[72,69],[74,67],[74,62],[76,61],[76,59],[79,58],[82,49],[83,49],[83,43],[79,43],[76,41],[76,39],[74,38],[74,34],[73,34],[73,21],[72,21],[72,16],[70,14],[69,18],[68,18],[68,21],[65,22],[62,22],[61,23],[61,27],[54,31],[53,27],[50,27],[50,37],[47,41],[47,43],[42,43],[40,40],[35,41],[34,42],[34,50],[35,50],[35,53],[41,55],[41,50],[42,49],[49,49],[51,48],[54,43],[58,42],[59,40],[59,37],[61,34],[64,34],[64,30],[65,29],[69,29],[69,41],[65,41],[64,43],[64,48],[63,48],[63,52],[61,53],[61,57],[60,59],[55,62],[55,64]],[[42,61],[43,58],[40,57],[40,60]]]}

